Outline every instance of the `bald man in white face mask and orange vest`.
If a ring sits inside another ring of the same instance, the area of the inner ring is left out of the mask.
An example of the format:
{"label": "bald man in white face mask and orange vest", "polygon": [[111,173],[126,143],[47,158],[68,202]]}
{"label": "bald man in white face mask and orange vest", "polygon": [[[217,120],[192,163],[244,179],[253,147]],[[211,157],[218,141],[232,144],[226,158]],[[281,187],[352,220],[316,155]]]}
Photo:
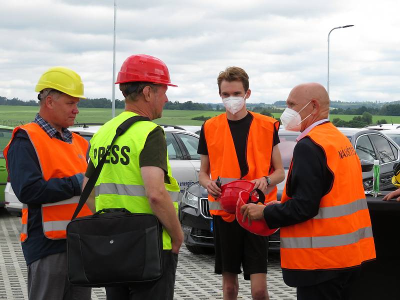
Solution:
{"label": "bald man in white face mask and orange vest", "polygon": [[359,159],[329,122],[322,85],[295,86],[286,104],[281,121],[301,134],[281,202],[243,205],[243,220],[280,227],[283,279],[297,299],[350,299],[359,266],[375,258]]}

